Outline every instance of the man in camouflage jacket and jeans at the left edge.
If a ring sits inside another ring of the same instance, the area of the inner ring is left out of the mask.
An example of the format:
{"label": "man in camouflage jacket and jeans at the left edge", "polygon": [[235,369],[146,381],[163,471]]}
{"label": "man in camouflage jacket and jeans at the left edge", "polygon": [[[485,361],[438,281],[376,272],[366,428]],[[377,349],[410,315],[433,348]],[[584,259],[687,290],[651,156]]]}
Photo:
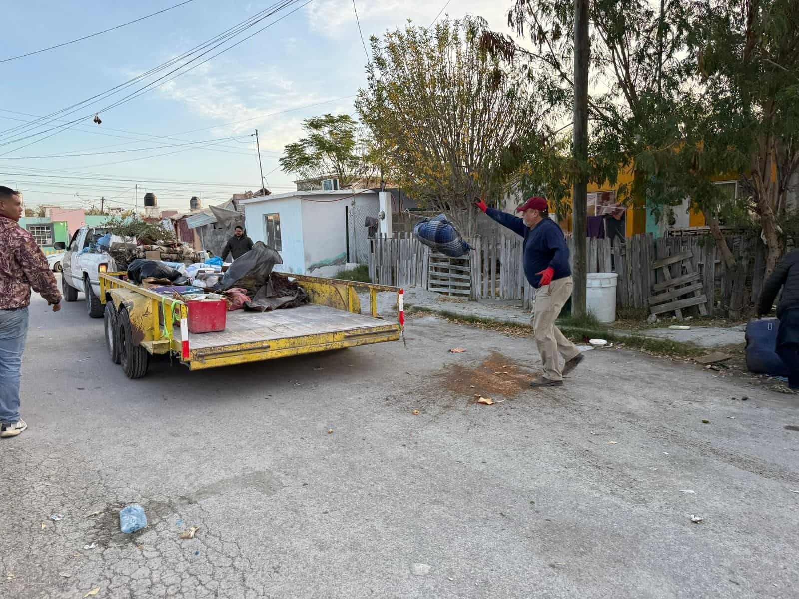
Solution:
{"label": "man in camouflage jacket and jeans at the left edge", "polygon": [[22,351],[28,333],[30,288],[42,294],[53,311],[61,293],[34,237],[19,226],[22,197],[0,185],[0,437],[16,437],[28,425],[19,416]]}

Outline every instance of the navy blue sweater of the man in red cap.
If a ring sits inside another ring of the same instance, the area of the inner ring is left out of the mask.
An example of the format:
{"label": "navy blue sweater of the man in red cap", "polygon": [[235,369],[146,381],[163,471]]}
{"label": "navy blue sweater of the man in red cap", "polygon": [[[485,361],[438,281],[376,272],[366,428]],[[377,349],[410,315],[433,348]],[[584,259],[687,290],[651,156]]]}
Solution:
{"label": "navy blue sweater of the man in red cap", "polygon": [[488,208],[486,214],[524,237],[524,275],[533,287],[541,286],[541,275],[536,273],[549,267],[555,270],[552,280],[570,276],[569,246],[566,245],[562,228],[555,220],[545,218],[535,227],[528,228],[518,216],[496,208]]}

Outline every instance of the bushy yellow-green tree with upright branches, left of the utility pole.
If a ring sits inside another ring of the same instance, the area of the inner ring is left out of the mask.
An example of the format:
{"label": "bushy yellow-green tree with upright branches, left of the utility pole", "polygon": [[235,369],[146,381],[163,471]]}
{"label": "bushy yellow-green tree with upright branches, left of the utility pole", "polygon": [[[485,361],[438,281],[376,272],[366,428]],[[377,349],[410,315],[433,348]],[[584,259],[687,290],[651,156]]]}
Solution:
{"label": "bushy yellow-green tree with upright branches, left of the utility pole", "polygon": [[467,235],[475,197],[499,196],[545,121],[532,73],[483,50],[484,30],[482,19],[464,18],[372,38],[356,101],[381,169]]}

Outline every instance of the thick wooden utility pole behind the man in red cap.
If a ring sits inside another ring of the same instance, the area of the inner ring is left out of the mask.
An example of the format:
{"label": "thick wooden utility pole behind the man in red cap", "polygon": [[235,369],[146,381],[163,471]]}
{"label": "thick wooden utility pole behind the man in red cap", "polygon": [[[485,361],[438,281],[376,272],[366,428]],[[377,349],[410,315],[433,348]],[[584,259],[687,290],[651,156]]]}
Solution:
{"label": "thick wooden utility pole behind the man in red cap", "polygon": [[[588,0],[574,0],[574,158],[587,168],[588,161]],[[571,194],[571,223],[574,237],[574,292],[571,314],[586,314],[586,222],[588,176],[580,169]]]}

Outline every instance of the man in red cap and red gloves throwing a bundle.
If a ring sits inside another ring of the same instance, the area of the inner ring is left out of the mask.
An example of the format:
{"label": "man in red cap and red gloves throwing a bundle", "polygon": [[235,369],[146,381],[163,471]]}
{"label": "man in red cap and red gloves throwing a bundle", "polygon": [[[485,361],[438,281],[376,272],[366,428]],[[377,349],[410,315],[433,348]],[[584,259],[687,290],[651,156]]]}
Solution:
{"label": "man in red cap and red gloves throwing a bundle", "polygon": [[[547,200],[531,197],[516,208],[522,218],[488,208],[483,200],[477,207],[499,224],[524,237],[524,275],[536,289],[533,329],[535,344],[544,365],[544,374],[530,383],[531,387],[560,387],[567,375],[582,362],[582,354],[555,327],[563,305],[571,296],[574,282],[569,267],[569,247],[560,225],[549,217]],[[566,363],[562,369],[559,354]]]}

